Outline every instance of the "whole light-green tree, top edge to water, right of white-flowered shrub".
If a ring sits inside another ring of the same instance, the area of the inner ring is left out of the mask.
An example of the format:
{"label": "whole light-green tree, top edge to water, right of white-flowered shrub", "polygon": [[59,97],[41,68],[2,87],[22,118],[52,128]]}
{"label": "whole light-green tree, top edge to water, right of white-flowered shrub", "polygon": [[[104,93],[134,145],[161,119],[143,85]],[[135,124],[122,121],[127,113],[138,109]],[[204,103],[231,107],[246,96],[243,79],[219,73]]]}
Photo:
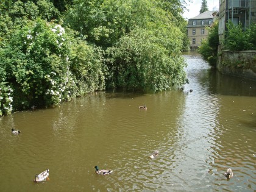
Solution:
{"label": "whole light-green tree, top edge to water, right of white-flowered shrub", "polygon": [[187,82],[180,56],[185,32],[183,23],[176,22],[183,21],[182,8],[179,1],[176,5],[163,0],[77,0],[65,23],[106,50],[107,87],[162,91]]}

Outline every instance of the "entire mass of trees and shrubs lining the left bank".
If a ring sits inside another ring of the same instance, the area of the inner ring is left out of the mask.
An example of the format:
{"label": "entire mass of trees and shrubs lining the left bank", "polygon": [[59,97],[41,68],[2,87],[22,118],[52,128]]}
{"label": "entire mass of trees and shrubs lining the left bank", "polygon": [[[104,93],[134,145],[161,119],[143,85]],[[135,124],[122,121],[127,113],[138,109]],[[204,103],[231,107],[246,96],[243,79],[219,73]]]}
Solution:
{"label": "entire mass of trees and shrubs lining the left bank", "polygon": [[152,91],[185,84],[183,2],[2,0],[0,115],[58,105],[105,80]]}

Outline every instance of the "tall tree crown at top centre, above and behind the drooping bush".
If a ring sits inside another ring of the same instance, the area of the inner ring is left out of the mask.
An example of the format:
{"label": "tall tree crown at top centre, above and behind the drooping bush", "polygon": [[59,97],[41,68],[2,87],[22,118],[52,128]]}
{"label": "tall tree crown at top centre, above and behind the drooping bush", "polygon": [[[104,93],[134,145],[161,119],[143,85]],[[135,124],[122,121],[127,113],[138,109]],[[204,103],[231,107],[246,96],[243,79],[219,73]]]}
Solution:
{"label": "tall tree crown at top centre, above and behind the drooping bush", "polygon": [[[170,23],[180,26],[180,22],[169,12],[171,9],[175,8],[168,1],[160,3],[156,0],[77,0],[74,1],[73,8],[68,10],[65,24],[80,32],[88,42],[108,48],[136,27],[150,30],[152,27]],[[182,9],[176,9],[179,21],[183,22],[179,14]]]}

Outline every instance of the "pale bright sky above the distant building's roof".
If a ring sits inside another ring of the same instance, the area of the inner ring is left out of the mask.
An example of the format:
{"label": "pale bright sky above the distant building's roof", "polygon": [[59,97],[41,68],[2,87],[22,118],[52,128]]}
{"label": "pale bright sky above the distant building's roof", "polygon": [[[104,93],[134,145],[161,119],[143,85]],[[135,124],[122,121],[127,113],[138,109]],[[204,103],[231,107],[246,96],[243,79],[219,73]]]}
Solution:
{"label": "pale bright sky above the distant building's roof", "polygon": [[[187,2],[187,9],[185,13],[183,13],[183,18],[186,20],[193,18],[194,16],[199,15],[199,11],[201,9],[202,0],[191,0],[192,2]],[[207,0],[208,10],[218,10],[219,9],[219,0]]]}

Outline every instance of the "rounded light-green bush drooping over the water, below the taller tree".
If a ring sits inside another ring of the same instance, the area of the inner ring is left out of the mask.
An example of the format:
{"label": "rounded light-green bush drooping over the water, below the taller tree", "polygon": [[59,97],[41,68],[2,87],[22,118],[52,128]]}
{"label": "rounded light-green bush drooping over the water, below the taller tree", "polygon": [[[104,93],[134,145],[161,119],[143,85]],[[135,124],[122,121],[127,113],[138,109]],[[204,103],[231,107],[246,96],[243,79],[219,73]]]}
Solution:
{"label": "rounded light-green bush drooping over the water, below the taller tree", "polygon": [[[149,31],[138,28],[121,37],[115,47],[107,50],[111,73],[108,85],[130,90],[163,91],[174,84],[185,84],[185,62],[175,49],[169,49],[181,44],[180,40],[170,38],[176,33],[175,29]],[[163,34],[169,37],[165,39]]]}

